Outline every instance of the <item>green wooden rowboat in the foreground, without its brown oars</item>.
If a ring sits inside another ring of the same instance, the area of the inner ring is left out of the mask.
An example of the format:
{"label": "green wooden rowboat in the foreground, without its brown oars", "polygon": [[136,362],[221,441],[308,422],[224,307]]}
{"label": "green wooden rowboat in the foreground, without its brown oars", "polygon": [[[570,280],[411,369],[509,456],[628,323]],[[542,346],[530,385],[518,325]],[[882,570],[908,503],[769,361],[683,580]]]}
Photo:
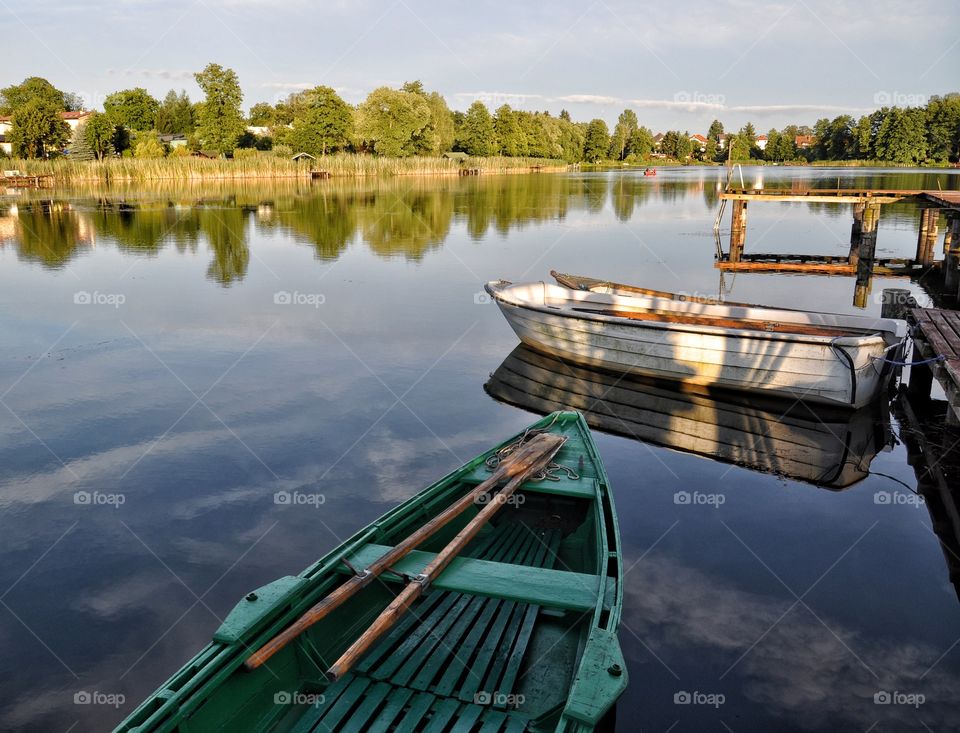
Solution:
{"label": "green wooden rowboat in the foreground, without its brown oars", "polygon": [[[393,572],[248,670],[251,654],[489,479],[491,466],[517,441],[538,433],[566,439],[547,478],[523,482],[349,671],[329,681],[331,663],[405,581],[416,582],[477,518],[482,500],[397,561]],[[553,413],[389,511],[300,575],[248,594],[213,641],[116,730],[607,729],[627,685],[617,640],[621,576],[613,497],[589,429],[579,413]]]}

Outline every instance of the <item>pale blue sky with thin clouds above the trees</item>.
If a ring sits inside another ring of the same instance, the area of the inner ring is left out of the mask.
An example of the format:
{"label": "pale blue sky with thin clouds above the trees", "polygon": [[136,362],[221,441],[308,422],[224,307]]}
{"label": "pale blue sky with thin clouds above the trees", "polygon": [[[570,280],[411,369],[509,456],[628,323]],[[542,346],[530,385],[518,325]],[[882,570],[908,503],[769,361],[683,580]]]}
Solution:
{"label": "pale blue sky with thin clouds above the trees", "polygon": [[135,86],[198,99],[192,73],[215,61],[245,107],[420,79],[452,109],[765,131],[960,91],[958,27],[951,0],[0,0],[0,86],[43,76],[92,108]]}

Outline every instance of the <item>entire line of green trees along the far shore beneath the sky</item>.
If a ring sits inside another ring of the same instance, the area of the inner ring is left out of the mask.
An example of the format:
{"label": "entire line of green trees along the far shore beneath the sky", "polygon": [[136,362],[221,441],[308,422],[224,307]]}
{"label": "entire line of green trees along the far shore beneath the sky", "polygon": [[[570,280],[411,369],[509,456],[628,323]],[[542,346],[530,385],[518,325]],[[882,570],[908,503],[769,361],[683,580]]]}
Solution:
{"label": "entire line of green trees along the far shore beneath the sky", "polygon": [[[337,152],[382,156],[471,156],[549,158],[568,163],[883,160],[897,163],[956,161],[960,156],[960,94],[931,97],[922,107],[883,107],[855,119],[840,115],[813,127],[771,129],[765,140],[751,123],[726,134],[714,120],[705,137],[669,130],[654,136],[633,110],[624,110],[611,131],[602,119],[574,122],[563,110],[512,109],[491,112],[482,101],[451,111],[436,91],[420,81],[399,89],[374,89],[358,105],[328,86],[294,92],[286,99],[254,104],[244,115],[236,72],[208,64],[194,74],[203,99],[185,91],[162,99],[136,87],[114,92],[72,134],[61,112],[79,110],[81,100],[49,81],[30,77],[0,89],[0,114],[11,116],[8,135],[18,157],[61,154],[103,159],[111,155],[162,157],[206,151],[243,156],[257,150],[281,155]],[[252,130],[251,130],[252,128]],[[159,136],[183,135],[186,145],[170,150]],[[798,144],[799,141],[799,144]]]}

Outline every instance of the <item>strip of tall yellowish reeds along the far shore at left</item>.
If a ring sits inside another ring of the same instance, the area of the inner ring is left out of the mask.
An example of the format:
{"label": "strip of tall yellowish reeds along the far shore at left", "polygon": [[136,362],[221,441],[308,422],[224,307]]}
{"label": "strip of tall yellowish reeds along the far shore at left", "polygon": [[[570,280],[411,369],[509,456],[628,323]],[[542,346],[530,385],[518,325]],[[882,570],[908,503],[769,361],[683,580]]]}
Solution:
{"label": "strip of tall yellowish reeds along the far shore at left", "polygon": [[3,160],[3,170],[28,176],[52,176],[55,184],[111,183],[155,180],[241,180],[290,178],[309,180],[313,171],[331,177],[460,175],[464,169],[482,173],[564,171],[561,160],[541,158],[467,158],[461,164],[448,158],[380,158],[371,155],[332,155],[295,162],[272,155],[235,160],[205,158],[112,158],[104,161]]}

